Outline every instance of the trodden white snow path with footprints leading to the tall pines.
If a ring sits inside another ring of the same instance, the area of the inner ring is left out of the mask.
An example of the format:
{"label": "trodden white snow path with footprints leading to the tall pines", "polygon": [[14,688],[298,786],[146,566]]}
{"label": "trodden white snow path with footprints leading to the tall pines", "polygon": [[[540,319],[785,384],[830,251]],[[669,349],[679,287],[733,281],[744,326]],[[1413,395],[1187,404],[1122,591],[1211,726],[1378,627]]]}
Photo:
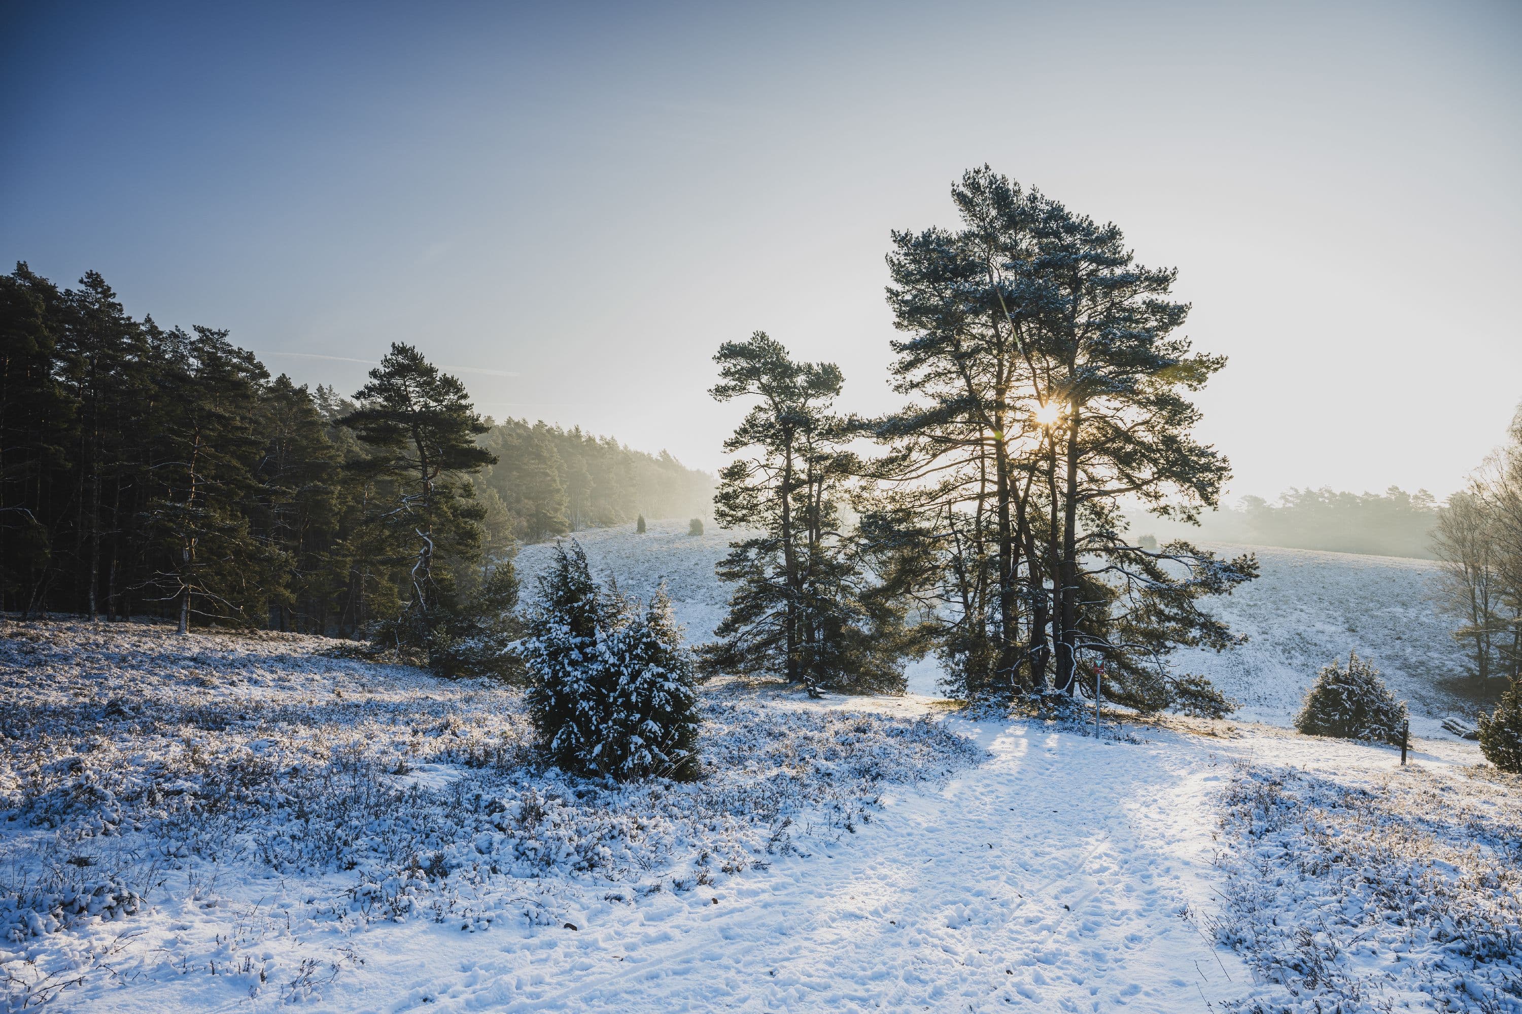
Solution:
{"label": "trodden white snow path with footprints leading to the tall pines", "polygon": [[1181,1011],[1239,996],[1240,964],[1180,917],[1210,905],[1207,794],[1225,760],[1166,733],[976,728],[985,765],[889,798],[810,857],[610,905],[577,932],[399,927],[409,940],[380,944],[384,964],[347,973],[342,994],[390,1011]]}

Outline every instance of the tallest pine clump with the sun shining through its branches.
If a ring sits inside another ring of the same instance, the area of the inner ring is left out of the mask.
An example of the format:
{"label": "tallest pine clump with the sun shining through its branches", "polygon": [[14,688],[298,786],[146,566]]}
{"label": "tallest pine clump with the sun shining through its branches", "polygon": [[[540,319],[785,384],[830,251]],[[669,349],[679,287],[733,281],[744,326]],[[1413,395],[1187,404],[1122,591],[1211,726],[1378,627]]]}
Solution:
{"label": "tallest pine clump with the sun shining through its branches", "polygon": [[[1073,693],[1082,655],[1137,669],[1178,643],[1234,643],[1196,600],[1251,579],[1251,558],[1120,535],[1122,497],[1193,520],[1230,474],[1190,432],[1184,395],[1224,360],[1173,334],[1187,313],[1169,299],[1173,272],[986,166],[953,199],[960,230],[893,234],[889,304],[909,334],[893,375],[915,401],[877,435],[893,448],[904,531],[941,559],[960,681]],[[1085,597],[1099,573],[1119,594]]]}

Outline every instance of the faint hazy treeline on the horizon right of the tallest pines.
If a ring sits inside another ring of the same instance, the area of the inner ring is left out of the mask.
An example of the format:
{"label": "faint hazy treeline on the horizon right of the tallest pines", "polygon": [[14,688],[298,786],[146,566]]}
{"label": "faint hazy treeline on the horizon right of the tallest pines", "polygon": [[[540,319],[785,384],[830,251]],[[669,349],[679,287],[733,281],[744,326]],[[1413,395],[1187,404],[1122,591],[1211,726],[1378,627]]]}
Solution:
{"label": "faint hazy treeline on the horizon right of the tallest pines", "polygon": [[1432,528],[1438,503],[1426,490],[1383,493],[1289,490],[1269,503],[1242,497],[1237,506],[1202,514],[1199,528],[1128,512],[1135,535],[1193,538],[1250,546],[1288,546],[1338,553],[1435,559]]}

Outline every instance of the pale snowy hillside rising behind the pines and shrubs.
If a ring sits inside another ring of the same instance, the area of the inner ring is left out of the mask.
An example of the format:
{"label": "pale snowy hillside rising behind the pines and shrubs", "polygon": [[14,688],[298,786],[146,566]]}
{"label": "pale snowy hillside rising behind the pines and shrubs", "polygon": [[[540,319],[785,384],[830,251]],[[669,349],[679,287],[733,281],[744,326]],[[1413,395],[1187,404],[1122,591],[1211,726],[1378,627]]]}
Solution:
{"label": "pale snowy hillside rising behind the pines and shrubs", "polygon": [[[724,616],[728,590],[714,576],[729,534],[686,534],[686,521],[651,521],[578,532],[598,578],[613,575],[626,591],[648,596],[665,579],[688,639],[705,642]],[[1409,701],[1417,727],[1434,734],[1437,722],[1466,707],[1435,681],[1463,673],[1463,649],[1437,614],[1432,578],[1437,564],[1396,556],[1359,556],[1310,549],[1210,544],[1224,556],[1257,555],[1262,576],[1212,608],[1248,643],[1227,652],[1181,651],[1183,672],[1210,677],[1240,702],[1237,719],[1289,725],[1317,670],[1348,651],[1370,658],[1394,692]],[[525,596],[531,576],[551,556],[551,544],[519,555]],[[935,695],[939,670],[931,660],[910,666],[910,690]]]}

